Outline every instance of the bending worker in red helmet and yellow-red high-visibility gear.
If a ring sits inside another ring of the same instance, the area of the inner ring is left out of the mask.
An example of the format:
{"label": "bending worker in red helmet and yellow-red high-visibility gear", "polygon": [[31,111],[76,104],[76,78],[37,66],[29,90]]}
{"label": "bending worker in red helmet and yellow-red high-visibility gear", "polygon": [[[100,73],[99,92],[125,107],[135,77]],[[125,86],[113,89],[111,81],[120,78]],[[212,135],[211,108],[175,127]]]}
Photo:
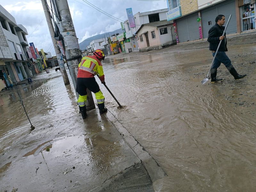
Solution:
{"label": "bending worker in red helmet and yellow-red high-visibility gear", "polygon": [[87,99],[86,88],[95,94],[100,115],[107,112],[107,108],[105,108],[104,105],[105,97],[100,91],[100,87],[94,77],[95,75],[99,76],[101,83],[105,84],[105,77],[101,64],[101,60],[104,60],[104,58],[105,55],[102,50],[97,49],[93,52],[92,56],[83,57],[78,65],[76,92],[78,92],[79,97],[77,99],[77,104],[79,105],[83,119],[87,116],[85,106]]}

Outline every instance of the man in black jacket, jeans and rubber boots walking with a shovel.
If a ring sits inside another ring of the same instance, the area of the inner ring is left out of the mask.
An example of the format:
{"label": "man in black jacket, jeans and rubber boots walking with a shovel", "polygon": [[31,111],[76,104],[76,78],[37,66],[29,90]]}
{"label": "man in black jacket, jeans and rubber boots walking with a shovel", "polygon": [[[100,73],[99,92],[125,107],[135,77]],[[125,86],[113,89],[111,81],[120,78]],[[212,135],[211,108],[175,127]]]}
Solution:
{"label": "man in black jacket, jeans and rubber boots walking with a shovel", "polygon": [[223,26],[225,23],[225,16],[224,15],[218,15],[215,19],[215,25],[210,28],[208,32],[208,39],[207,41],[210,43],[209,49],[212,51],[212,56],[214,57],[216,50],[218,48],[218,45],[221,41],[220,48],[218,50],[218,53],[213,61],[213,65],[211,68],[211,83],[215,83],[218,81],[223,81],[223,79],[217,79],[217,68],[220,67],[220,64],[223,63],[228,71],[231,73],[231,75],[234,76],[235,79],[241,79],[245,77],[246,75],[239,75],[236,72],[236,69],[231,64],[230,59],[226,55],[227,49],[227,39],[226,34],[223,35],[225,27]]}

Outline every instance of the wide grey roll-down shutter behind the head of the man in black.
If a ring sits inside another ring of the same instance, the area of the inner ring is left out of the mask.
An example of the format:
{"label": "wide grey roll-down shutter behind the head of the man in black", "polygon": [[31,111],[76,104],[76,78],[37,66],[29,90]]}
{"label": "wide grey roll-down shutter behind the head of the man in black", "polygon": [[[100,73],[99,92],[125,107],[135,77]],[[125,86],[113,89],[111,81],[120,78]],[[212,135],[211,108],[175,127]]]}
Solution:
{"label": "wide grey roll-down shutter behind the head of the man in black", "polygon": [[226,22],[228,22],[229,15],[232,14],[228,28],[226,30],[226,34],[237,32],[235,1],[227,0],[214,6],[207,7],[201,11],[203,38],[208,37],[209,29],[215,25],[215,18],[220,14],[225,15]]}

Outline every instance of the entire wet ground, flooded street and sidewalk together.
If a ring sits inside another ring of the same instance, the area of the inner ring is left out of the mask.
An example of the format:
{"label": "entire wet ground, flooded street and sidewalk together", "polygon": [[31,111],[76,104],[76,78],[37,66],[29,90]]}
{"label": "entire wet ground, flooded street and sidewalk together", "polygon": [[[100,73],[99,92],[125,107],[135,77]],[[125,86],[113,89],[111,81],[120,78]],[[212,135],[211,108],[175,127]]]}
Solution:
{"label": "entire wet ground, flooded street and sidewalk together", "polygon": [[254,191],[254,35],[228,38],[239,81],[221,66],[222,83],[200,83],[206,41],[107,56],[123,108],[99,84],[108,113],[85,120],[60,73],[35,76],[19,85],[32,132],[17,94],[0,92],[0,191]]}

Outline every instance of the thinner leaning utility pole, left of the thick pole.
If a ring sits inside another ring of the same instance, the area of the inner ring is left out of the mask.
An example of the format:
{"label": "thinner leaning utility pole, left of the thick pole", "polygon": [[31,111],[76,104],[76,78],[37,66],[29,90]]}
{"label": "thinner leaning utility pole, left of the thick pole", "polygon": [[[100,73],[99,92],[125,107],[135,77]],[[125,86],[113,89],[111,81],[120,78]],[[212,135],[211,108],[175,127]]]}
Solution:
{"label": "thinner leaning utility pole, left of the thick pole", "polygon": [[57,55],[57,60],[58,60],[59,66],[60,66],[60,71],[61,71],[61,74],[62,74],[62,78],[63,78],[64,84],[68,85],[70,83],[69,83],[69,80],[68,80],[67,71],[66,71],[65,66],[64,66],[64,61],[62,59],[62,55],[61,55],[60,50],[58,48],[57,41],[56,41],[56,39],[54,39],[54,29],[53,29],[53,26],[52,26],[52,20],[51,20],[51,17],[50,17],[50,12],[49,12],[49,9],[47,7],[46,0],[41,0],[41,1],[42,1],[42,5],[43,5],[43,8],[44,8],[44,14],[45,14],[45,18],[46,18],[46,21],[47,21],[47,24],[48,24],[48,28],[49,28],[49,31],[50,31],[50,34],[51,34],[51,37],[52,37],[53,47],[54,47],[55,53]]}

